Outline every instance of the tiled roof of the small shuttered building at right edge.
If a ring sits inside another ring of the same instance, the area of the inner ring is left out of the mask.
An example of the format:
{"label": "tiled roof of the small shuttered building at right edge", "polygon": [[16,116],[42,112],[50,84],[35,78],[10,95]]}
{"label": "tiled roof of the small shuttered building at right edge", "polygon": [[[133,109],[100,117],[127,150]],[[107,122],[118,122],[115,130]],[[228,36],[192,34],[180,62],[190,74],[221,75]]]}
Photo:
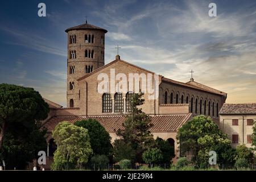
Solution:
{"label": "tiled roof of the small shuttered building at right edge", "polygon": [[256,103],[254,104],[224,104],[220,114],[256,114]]}

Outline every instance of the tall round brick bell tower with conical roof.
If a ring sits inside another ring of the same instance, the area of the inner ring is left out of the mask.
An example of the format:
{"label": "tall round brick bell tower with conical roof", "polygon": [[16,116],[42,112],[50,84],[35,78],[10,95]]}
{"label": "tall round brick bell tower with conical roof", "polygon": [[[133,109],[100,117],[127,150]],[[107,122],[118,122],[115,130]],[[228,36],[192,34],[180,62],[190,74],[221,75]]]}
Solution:
{"label": "tall round brick bell tower with conical roof", "polygon": [[105,34],[107,30],[80,24],[65,30],[68,34],[67,106],[79,107],[80,90],[77,79],[105,64]]}

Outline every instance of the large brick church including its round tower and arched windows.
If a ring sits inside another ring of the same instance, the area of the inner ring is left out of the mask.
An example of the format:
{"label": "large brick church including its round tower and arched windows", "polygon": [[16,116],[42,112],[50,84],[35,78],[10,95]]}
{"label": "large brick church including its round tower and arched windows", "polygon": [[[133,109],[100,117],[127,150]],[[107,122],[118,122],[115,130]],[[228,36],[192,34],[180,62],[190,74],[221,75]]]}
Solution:
{"label": "large brick church including its round tower and arched windows", "polygon": [[[122,60],[119,55],[109,64],[105,64],[105,34],[107,31],[88,24],[68,28],[68,59],[67,59],[67,106],[61,107],[46,100],[51,111],[43,125],[48,129],[47,155],[53,153],[51,131],[61,121],[75,123],[81,119],[95,118],[110,133],[112,142],[117,138],[115,130],[122,127],[125,114],[129,113],[129,99],[135,92],[134,88],[127,92],[110,92],[108,83],[106,92],[98,92],[98,76],[104,73],[111,77],[119,73],[129,77],[129,73],[147,75],[156,73]],[[139,90],[143,91],[142,78],[139,78]],[[157,81],[156,81],[157,80]],[[154,125],[150,131],[154,138],[168,140],[175,148],[176,158],[179,157],[179,146],[176,140],[177,129],[195,115],[204,114],[212,117],[218,124],[218,112],[224,105],[227,94],[200,84],[191,78],[189,82],[171,80],[161,75],[153,79],[155,99],[149,98],[145,92],[142,110],[151,115]],[[115,80],[115,85],[118,85]],[[127,82],[129,88],[129,82]],[[152,94],[152,93],[151,93]],[[157,95],[156,95],[157,94]]]}

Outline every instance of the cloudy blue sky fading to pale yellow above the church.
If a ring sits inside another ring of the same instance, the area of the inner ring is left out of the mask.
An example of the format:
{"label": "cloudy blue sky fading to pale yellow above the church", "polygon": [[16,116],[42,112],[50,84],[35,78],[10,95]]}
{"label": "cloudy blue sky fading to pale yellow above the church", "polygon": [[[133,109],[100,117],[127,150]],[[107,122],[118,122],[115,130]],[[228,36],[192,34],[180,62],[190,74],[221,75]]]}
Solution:
{"label": "cloudy blue sky fading to pale yellow above the church", "polygon": [[[38,4],[46,4],[46,17]],[[210,17],[209,3],[217,5]],[[173,80],[256,102],[256,1],[3,1],[0,83],[32,87],[66,106],[67,34],[85,23],[105,28],[105,64],[122,60]]]}

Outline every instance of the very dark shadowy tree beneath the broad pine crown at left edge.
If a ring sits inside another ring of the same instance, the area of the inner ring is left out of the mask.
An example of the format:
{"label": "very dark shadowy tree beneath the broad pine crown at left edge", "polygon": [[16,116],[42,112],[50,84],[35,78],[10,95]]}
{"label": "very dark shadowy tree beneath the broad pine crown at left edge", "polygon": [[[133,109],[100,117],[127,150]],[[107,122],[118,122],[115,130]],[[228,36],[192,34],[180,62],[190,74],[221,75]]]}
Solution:
{"label": "very dark shadowy tree beneath the broad pine crown at left edge", "polygon": [[24,126],[10,123],[3,139],[0,161],[5,160],[6,169],[25,169],[28,162],[38,158],[39,151],[46,151],[46,130],[40,125]]}

